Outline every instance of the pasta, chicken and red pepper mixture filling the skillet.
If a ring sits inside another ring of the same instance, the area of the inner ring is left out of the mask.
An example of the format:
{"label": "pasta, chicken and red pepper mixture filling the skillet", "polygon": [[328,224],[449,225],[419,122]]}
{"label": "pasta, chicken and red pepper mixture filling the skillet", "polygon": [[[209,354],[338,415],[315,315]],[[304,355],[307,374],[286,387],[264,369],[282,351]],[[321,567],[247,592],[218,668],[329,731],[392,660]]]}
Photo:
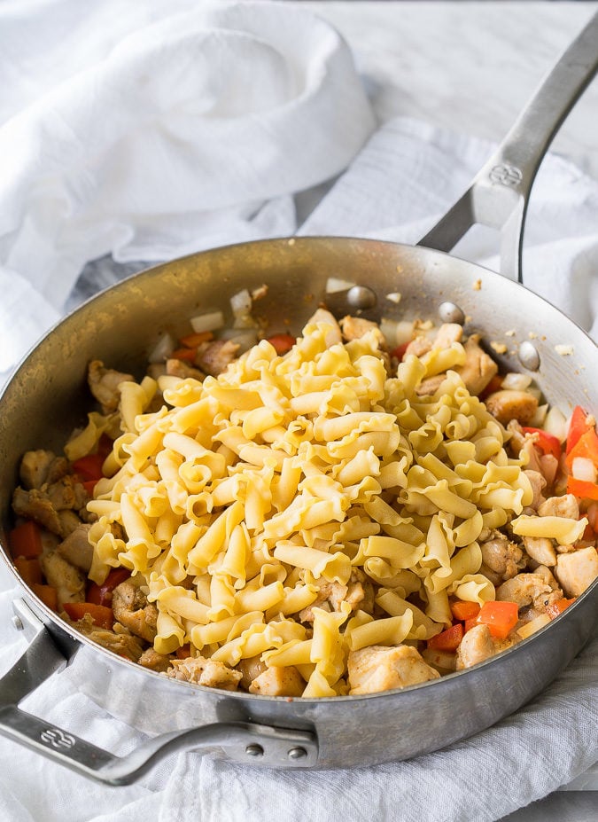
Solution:
{"label": "pasta, chicken and red pepper mixture filling the skillet", "polygon": [[499,653],[598,575],[595,420],[478,335],[391,349],[319,309],[239,356],[209,325],[141,383],[91,363],[101,411],[22,460],[14,562],[76,630],[200,685],[376,693]]}

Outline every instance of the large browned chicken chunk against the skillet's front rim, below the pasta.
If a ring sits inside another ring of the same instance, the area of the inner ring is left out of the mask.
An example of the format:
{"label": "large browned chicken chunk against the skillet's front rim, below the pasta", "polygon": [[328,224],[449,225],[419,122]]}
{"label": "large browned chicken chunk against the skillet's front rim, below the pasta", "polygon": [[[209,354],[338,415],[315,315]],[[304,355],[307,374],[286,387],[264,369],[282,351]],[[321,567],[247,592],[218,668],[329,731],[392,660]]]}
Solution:
{"label": "large browned chicken chunk against the skillet's front rim, below the pasta", "polygon": [[437,670],[423,662],[414,647],[408,645],[375,645],[351,651],[347,671],[349,693],[353,696],[405,688],[440,676]]}

